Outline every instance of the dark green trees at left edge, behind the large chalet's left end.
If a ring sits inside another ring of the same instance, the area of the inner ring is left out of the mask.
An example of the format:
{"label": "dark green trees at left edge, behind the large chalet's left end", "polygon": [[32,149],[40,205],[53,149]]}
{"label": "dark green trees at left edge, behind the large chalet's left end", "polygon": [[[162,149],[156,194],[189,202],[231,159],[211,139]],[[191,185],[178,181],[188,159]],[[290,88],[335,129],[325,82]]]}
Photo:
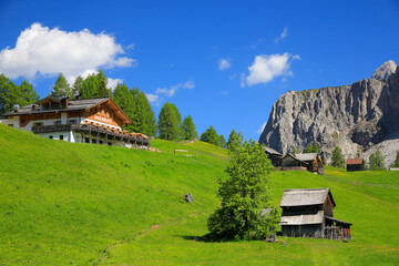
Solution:
{"label": "dark green trees at left edge, behind the large chalet's left end", "polygon": [[27,80],[23,80],[21,85],[17,85],[6,75],[0,74],[0,114],[11,112],[14,104],[22,108],[39,100],[38,93]]}

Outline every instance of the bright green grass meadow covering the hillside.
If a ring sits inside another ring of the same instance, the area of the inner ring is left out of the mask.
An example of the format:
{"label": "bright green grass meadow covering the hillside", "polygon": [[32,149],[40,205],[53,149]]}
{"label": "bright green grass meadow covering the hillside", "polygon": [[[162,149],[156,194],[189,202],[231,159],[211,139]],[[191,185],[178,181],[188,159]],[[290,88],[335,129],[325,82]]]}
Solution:
{"label": "bright green grass meadow covering the hillside", "polygon": [[349,243],[204,243],[195,239],[218,205],[226,151],[152,146],[164,152],[45,140],[0,124],[0,265],[399,265],[398,172],[272,172],[276,206],[286,188],[329,187],[335,216],[354,223]]}

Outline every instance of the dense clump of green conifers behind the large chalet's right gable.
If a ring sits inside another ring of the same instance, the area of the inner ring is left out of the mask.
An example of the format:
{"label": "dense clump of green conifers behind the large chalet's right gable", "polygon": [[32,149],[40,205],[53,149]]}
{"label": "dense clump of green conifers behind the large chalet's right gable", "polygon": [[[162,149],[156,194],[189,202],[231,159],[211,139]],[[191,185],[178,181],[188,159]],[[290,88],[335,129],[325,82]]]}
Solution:
{"label": "dense clump of green conifers behind the large chalet's right gable", "polygon": [[124,130],[149,136],[156,135],[155,114],[144,92],[137,88],[129,89],[125,84],[117,84],[112,99],[132,120],[132,124],[124,125]]}

